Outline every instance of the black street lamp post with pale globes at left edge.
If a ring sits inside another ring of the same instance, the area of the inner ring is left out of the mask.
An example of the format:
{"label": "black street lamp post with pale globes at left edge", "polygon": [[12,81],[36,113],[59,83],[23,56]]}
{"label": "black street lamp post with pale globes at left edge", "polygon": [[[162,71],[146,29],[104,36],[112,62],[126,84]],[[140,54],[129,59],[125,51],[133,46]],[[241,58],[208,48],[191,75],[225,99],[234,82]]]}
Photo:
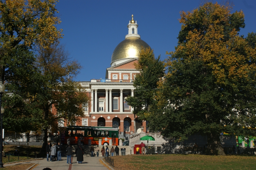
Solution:
{"label": "black street lamp post with pale globes at left edge", "polygon": [[3,114],[4,114],[4,108],[2,107],[2,96],[5,90],[5,86],[3,84],[3,81],[0,81],[0,114],[1,114],[1,136],[0,136],[0,168],[3,168]]}

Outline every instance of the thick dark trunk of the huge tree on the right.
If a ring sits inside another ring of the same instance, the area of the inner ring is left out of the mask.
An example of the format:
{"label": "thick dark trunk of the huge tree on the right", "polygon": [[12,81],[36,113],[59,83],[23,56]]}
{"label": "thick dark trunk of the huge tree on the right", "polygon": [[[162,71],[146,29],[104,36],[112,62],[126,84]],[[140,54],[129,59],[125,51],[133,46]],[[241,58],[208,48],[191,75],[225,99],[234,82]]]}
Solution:
{"label": "thick dark trunk of the huge tree on the right", "polygon": [[223,147],[220,144],[220,134],[219,133],[209,133],[207,134],[207,155],[226,155]]}

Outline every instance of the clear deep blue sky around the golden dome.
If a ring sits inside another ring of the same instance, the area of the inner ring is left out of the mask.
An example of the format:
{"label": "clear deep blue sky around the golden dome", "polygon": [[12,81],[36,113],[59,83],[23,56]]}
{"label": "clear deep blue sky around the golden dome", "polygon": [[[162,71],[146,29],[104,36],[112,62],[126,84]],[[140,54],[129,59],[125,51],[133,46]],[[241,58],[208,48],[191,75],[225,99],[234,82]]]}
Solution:
{"label": "clear deep blue sky around the golden dome", "polygon": [[[141,39],[154,49],[156,56],[167,57],[166,51],[174,50],[181,24],[180,11],[191,11],[202,0],[60,0],[56,4],[70,57],[77,60],[83,69],[76,81],[104,79],[110,67],[111,56],[116,46],[127,34],[127,24],[134,15],[139,24]],[[216,2],[212,1],[212,2]],[[218,0],[221,3],[222,0]],[[233,0],[233,12],[242,10],[245,28],[240,35],[256,32],[256,0]]]}

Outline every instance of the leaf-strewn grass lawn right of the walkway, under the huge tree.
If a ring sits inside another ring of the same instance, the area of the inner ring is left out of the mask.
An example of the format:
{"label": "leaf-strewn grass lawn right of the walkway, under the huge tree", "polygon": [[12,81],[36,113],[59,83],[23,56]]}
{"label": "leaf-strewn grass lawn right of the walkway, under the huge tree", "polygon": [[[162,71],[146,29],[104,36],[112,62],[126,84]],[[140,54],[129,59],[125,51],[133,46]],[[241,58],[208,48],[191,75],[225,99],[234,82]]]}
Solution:
{"label": "leaf-strewn grass lawn right of the walkway, under the huge tree", "polygon": [[256,156],[126,155],[115,156],[114,169],[256,169]]}

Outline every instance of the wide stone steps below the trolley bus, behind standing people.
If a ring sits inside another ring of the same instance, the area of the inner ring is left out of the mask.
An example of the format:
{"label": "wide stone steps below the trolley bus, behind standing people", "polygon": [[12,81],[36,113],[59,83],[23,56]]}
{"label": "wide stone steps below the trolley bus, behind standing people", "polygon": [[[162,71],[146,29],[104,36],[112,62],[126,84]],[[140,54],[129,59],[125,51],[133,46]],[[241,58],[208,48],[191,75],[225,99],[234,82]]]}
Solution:
{"label": "wide stone steps below the trolley bus, behind standing people", "polygon": [[[72,157],[76,157],[76,153],[75,153],[75,151],[76,151],[76,146],[77,145],[71,145],[71,147],[72,147]],[[62,145],[62,150],[61,150],[61,156],[63,156],[63,157],[66,157],[67,156],[67,152],[66,152],[66,148],[67,148],[68,146],[67,145]],[[97,145],[93,145],[93,147],[94,147],[94,150],[95,150],[95,148],[97,147]],[[105,147],[105,146],[104,146]],[[116,146],[113,146],[114,148],[116,147]],[[90,157],[91,156],[91,153],[90,153],[90,148],[91,148],[91,146],[89,146],[89,145],[83,145],[83,148],[84,148],[84,157]],[[101,149],[102,148],[102,146],[99,146],[99,148]],[[108,148],[109,148],[109,151],[110,151],[110,149],[112,148],[112,146],[108,146]],[[131,154],[131,150],[132,150],[132,148],[130,147],[130,146],[118,146],[118,148],[119,148],[119,155],[121,155],[121,149],[124,149],[125,148],[125,155],[130,155]],[[105,149],[106,149],[106,147],[105,147]],[[95,154],[96,154],[96,151],[94,152]],[[133,150],[132,150],[132,154],[133,154]],[[102,154],[101,153],[99,153],[99,157],[102,157]]]}

